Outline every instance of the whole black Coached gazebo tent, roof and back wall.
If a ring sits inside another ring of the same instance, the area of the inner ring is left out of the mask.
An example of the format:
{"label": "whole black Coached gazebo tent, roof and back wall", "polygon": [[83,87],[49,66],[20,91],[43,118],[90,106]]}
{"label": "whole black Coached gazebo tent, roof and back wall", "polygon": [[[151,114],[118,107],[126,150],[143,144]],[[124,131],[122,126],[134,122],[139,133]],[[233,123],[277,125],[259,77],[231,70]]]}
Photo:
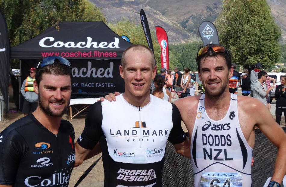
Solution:
{"label": "whole black Coached gazebo tent, roof and back wall", "polygon": [[[132,45],[103,21],[61,22],[38,36],[11,48],[11,58],[20,59],[21,81],[47,56],[67,58],[73,70],[74,94],[123,92],[119,74],[123,51]],[[82,96],[84,97],[84,96]]]}

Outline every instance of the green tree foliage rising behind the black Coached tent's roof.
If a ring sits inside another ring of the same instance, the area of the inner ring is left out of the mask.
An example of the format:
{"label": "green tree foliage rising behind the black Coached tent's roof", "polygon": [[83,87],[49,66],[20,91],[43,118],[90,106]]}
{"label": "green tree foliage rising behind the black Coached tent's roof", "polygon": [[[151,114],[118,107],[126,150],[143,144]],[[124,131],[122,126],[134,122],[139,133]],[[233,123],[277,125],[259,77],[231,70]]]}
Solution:
{"label": "green tree foliage rising behind the black Coached tent's roof", "polygon": [[0,0],[9,32],[10,45],[33,38],[60,21],[105,21],[88,0]]}

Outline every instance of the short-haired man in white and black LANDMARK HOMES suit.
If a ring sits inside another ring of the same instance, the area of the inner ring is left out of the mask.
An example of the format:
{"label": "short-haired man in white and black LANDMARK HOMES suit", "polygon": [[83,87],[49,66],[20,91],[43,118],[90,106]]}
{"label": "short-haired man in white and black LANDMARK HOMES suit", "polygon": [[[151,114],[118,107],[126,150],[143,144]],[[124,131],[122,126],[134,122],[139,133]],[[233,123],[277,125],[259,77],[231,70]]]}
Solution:
{"label": "short-haired man in white and black LANDMARK HOMES suit", "polygon": [[98,153],[93,148],[99,141],[106,187],[162,186],[167,140],[190,157],[178,108],[149,94],[156,70],[149,48],[127,48],[120,66],[125,92],[115,102],[96,102],[87,114],[75,166]]}

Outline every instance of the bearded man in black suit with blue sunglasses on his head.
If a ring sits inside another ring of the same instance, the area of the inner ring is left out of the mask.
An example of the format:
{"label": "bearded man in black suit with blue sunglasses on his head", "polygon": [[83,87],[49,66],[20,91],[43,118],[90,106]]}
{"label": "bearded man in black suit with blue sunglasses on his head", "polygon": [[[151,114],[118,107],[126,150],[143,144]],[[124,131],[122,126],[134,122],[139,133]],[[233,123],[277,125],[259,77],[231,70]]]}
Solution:
{"label": "bearded man in black suit with blue sunglasses on his head", "polygon": [[1,132],[0,186],[67,187],[75,161],[73,126],[61,117],[70,103],[70,63],[43,59],[34,90],[39,106]]}

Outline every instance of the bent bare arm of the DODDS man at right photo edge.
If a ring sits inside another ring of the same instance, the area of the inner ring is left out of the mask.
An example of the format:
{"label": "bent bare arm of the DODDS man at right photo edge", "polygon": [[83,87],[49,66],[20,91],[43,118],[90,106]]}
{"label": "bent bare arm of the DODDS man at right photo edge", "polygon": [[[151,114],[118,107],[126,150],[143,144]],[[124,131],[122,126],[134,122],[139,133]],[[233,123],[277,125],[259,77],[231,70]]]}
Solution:
{"label": "bent bare arm of the DODDS man at right photo edge", "polygon": [[[278,148],[278,153],[274,165],[272,179],[281,184],[286,173],[286,134],[284,130],[275,122],[268,109],[261,103],[258,106],[259,112],[253,112],[253,117],[257,120],[257,126],[263,134]],[[267,151],[267,150],[266,150]]]}

